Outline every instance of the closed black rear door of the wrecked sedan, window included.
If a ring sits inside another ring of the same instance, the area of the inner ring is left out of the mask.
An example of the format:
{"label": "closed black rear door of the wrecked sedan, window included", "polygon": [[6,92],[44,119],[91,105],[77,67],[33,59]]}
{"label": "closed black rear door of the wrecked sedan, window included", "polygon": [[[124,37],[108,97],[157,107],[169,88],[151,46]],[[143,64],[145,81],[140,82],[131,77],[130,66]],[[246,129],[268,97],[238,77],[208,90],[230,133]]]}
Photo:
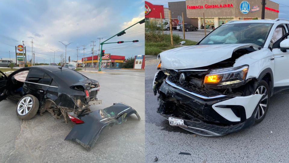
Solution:
{"label": "closed black rear door of the wrecked sedan, window included", "polygon": [[50,83],[51,78],[45,72],[30,69],[25,85],[23,85],[24,94],[31,94],[41,102]]}

